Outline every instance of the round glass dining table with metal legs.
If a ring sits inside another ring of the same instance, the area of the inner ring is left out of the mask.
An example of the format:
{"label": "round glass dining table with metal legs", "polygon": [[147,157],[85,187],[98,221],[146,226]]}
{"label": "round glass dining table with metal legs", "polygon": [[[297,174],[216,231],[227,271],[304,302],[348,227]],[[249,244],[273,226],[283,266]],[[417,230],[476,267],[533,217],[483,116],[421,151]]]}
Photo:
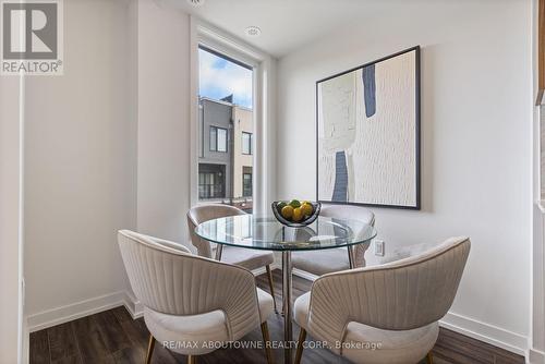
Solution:
{"label": "round glass dining table with metal legs", "polygon": [[284,363],[292,363],[292,263],[291,253],[346,247],[350,268],[354,265],[353,246],[376,235],[373,226],[358,221],[319,216],[303,228],[289,228],[274,217],[239,215],[208,220],[195,228],[202,239],[217,244],[216,259],[221,260],[223,245],[276,251],[282,254],[282,300],[284,318]]}

